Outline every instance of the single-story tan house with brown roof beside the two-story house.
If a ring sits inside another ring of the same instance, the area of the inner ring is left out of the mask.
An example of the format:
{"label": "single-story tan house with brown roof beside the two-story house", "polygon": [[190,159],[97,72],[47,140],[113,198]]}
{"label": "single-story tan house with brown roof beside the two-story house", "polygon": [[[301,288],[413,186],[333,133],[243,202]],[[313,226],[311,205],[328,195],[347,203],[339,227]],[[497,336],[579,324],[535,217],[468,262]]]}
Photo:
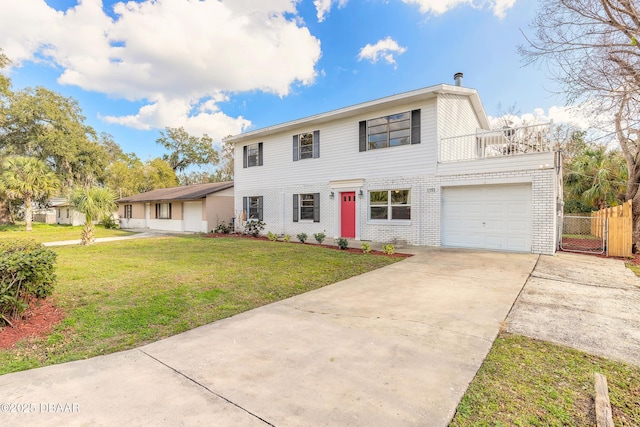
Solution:
{"label": "single-story tan house with brown roof beside the two-story house", "polygon": [[233,182],[162,188],[117,202],[120,228],[206,233],[234,217]]}

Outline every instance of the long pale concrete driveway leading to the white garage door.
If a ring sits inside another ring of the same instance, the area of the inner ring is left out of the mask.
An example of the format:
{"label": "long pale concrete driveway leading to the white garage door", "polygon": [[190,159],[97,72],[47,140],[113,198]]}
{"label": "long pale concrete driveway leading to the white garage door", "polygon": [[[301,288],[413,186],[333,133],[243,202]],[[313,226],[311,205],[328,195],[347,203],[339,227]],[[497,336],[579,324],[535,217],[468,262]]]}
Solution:
{"label": "long pale concrete driveway leading to the white garage door", "polygon": [[141,348],[0,376],[0,409],[33,410],[2,424],[446,426],[537,259],[427,249]]}

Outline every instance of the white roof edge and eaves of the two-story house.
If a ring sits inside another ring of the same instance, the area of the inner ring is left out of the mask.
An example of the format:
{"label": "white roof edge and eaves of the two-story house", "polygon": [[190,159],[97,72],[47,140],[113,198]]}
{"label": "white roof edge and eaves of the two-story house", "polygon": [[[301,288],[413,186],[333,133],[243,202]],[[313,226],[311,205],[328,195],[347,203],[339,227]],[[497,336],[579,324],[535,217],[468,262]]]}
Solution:
{"label": "white roof edge and eaves of the two-story house", "polygon": [[473,106],[473,110],[478,116],[478,120],[480,121],[481,126],[485,129],[489,129],[489,120],[487,118],[487,114],[484,111],[484,107],[482,106],[482,102],[480,101],[480,97],[478,96],[478,92],[475,89],[470,89],[464,86],[439,84],[422,89],[412,90],[410,92],[387,96],[385,98],[375,99],[373,101],[363,102],[349,107],[339,108],[337,110],[316,114],[314,116],[309,116],[302,119],[269,126],[266,128],[256,129],[250,132],[241,133],[239,135],[229,136],[223,138],[222,140],[235,144],[237,142],[242,142],[256,137],[264,137],[279,132],[294,130],[301,126],[311,126],[320,123],[326,123],[337,119],[348,118],[366,113],[373,113],[381,108],[399,106],[419,100],[433,99],[440,94],[468,96],[471,105]]}

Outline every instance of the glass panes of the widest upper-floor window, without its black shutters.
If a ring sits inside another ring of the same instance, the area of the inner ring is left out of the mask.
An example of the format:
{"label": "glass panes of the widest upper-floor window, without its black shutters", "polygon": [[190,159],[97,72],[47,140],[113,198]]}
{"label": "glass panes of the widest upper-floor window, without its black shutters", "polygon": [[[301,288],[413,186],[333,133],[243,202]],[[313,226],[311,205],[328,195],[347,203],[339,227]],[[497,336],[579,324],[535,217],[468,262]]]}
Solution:
{"label": "glass panes of the widest upper-floor window, without its black shutters", "polygon": [[367,149],[411,143],[411,112],[367,120]]}

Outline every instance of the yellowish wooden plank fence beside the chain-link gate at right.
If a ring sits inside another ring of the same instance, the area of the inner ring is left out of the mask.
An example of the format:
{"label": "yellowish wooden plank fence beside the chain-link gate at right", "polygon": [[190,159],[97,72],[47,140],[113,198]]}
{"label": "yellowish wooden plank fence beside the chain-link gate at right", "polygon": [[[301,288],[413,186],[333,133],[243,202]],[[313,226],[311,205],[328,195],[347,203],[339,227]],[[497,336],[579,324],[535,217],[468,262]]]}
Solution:
{"label": "yellowish wooden plank fence beside the chain-link gate at right", "polygon": [[[607,224],[607,227],[604,225]],[[591,213],[591,234],[606,236],[607,254],[609,256],[632,257],[633,219],[631,217],[631,200],[620,206],[601,209]]]}

